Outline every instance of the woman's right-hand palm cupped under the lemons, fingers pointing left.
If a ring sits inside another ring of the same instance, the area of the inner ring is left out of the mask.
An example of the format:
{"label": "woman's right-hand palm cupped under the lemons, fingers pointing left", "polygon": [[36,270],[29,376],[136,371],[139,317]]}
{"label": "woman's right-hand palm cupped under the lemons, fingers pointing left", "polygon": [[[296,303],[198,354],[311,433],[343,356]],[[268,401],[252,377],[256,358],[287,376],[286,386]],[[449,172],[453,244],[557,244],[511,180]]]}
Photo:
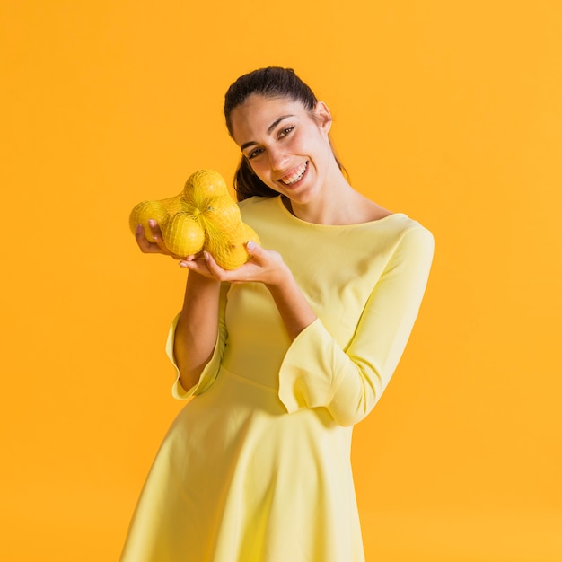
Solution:
{"label": "woman's right-hand palm cupped under the lemons, fingers pointing left", "polygon": [[266,250],[253,241],[246,244],[250,260],[240,268],[221,268],[208,251],[199,256],[189,256],[182,259],[180,266],[196,273],[228,283],[257,282],[271,287],[281,285],[288,277],[292,277],[289,268],[285,265],[281,254],[275,250]]}

